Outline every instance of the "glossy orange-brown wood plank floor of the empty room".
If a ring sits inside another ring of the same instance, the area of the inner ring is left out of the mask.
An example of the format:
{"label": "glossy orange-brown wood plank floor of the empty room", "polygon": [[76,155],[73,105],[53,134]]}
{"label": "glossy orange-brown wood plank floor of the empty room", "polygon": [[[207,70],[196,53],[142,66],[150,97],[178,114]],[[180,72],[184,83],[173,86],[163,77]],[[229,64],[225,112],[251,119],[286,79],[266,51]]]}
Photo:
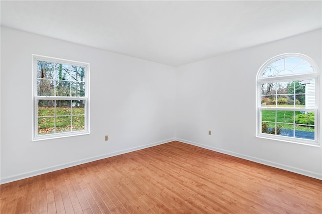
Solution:
{"label": "glossy orange-brown wood plank floor of the empty room", "polygon": [[171,142],[1,187],[7,213],[322,213],[322,181]]}

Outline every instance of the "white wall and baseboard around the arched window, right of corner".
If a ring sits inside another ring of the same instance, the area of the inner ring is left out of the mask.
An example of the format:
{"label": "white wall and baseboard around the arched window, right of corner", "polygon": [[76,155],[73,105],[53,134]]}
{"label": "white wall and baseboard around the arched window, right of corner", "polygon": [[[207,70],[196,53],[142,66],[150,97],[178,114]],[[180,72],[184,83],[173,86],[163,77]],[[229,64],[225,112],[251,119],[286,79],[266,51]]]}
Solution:
{"label": "white wall and baseboard around the arched window, right of corner", "polygon": [[255,137],[255,81],[261,65],[295,52],[311,57],[321,71],[321,47],[317,30],[178,67],[177,139],[322,179],[321,147]]}

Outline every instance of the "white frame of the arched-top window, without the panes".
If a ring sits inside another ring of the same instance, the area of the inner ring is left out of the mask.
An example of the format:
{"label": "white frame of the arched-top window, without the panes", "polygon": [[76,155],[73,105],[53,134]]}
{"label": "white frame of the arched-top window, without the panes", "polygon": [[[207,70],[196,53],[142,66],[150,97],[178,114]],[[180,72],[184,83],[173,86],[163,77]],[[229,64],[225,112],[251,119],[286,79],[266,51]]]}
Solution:
{"label": "white frame of the arched-top window, without the panes", "polygon": [[[305,74],[301,73],[301,74],[281,75],[281,76],[272,76],[272,77],[262,77],[263,72],[270,64],[272,64],[277,60],[280,60],[283,58],[289,58],[289,57],[295,57],[295,58],[300,58],[305,60],[312,66],[313,72],[305,73]],[[278,108],[278,107],[262,106],[262,103],[261,103],[262,101],[261,84],[262,83],[296,81],[296,80],[303,80],[303,79],[315,79],[315,107],[314,108],[295,108],[295,107]],[[290,142],[290,143],[319,146],[321,141],[321,132],[320,132],[321,119],[319,116],[321,94],[320,94],[319,88],[320,88],[319,69],[317,64],[310,57],[299,53],[285,53],[285,54],[277,55],[267,60],[259,69],[257,73],[257,78],[256,78],[256,137],[279,140],[279,141]],[[262,133],[261,132],[262,131],[262,117],[261,117],[262,110],[314,112],[314,140],[295,138],[295,136],[287,137],[287,136],[281,136],[281,135]]]}

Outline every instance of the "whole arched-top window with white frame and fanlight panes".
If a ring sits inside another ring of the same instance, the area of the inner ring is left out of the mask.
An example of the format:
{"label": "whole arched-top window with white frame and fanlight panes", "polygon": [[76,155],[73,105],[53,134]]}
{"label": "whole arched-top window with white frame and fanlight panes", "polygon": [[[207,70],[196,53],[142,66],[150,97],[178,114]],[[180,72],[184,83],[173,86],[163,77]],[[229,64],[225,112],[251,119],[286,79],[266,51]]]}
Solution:
{"label": "whole arched-top window with white frame and fanlight panes", "polygon": [[302,54],[268,60],[257,74],[257,136],[318,144],[319,71]]}

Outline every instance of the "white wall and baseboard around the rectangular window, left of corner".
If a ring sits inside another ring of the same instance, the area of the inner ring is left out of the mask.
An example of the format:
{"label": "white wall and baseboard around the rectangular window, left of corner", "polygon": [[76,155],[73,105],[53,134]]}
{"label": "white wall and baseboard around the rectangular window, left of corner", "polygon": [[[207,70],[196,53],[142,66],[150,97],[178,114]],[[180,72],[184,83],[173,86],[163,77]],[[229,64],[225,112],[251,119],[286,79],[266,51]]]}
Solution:
{"label": "white wall and baseboard around the rectangular window, left of corner", "polygon": [[[32,141],[32,54],[90,63],[90,135]],[[173,67],[1,28],[2,183],[172,141],[174,106]]]}

